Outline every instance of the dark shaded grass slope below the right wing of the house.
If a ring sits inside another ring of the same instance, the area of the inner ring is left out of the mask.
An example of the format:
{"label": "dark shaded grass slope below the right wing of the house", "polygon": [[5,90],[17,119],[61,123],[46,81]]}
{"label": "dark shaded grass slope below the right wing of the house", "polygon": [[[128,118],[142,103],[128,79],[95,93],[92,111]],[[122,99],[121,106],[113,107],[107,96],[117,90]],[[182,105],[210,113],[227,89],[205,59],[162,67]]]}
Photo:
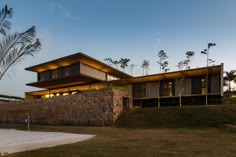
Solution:
{"label": "dark shaded grass slope below the right wing of the house", "polygon": [[116,122],[121,128],[209,128],[236,124],[236,105],[163,107],[124,112]]}

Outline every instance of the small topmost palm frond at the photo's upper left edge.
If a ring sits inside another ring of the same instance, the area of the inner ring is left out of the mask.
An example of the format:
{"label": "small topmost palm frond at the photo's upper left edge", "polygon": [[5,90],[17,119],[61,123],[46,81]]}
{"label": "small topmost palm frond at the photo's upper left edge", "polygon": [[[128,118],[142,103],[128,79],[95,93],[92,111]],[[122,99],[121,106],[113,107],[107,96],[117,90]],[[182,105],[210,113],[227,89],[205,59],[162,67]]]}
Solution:
{"label": "small topmost palm frond at the photo's upper left edge", "polygon": [[7,5],[0,11],[0,33],[3,36],[7,35],[7,32],[11,28],[11,23],[7,20],[12,17],[12,8],[8,9]]}

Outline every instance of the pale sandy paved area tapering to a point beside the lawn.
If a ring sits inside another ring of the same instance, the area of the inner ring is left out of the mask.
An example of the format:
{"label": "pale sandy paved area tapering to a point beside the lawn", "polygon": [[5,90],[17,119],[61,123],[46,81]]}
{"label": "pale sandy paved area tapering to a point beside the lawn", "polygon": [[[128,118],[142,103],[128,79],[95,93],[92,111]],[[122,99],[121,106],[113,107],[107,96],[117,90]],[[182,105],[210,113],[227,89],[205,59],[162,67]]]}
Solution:
{"label": "pale sandy paved area tapering to a point beside the lawn", "polygon": [[0,155],[76,143],[95,135],[0,129]]}

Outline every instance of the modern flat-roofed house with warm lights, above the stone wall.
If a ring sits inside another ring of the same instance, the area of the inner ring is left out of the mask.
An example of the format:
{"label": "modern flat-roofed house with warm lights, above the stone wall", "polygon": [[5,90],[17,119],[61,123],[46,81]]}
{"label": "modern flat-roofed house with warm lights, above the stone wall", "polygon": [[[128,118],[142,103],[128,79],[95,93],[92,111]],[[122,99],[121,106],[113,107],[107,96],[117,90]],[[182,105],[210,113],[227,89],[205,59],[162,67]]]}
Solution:
{"label": "modern flat-roofed house with warm lights, above the stone wall", "polygon": [[27,92],[26,99],[78,94],[87,90],[126,90],[134,106],[149,107],[220,104],[223,98],[223,64],[155,75],[132,77],[84,53],[26,68],[37,73],[27,85],[44,90]]}

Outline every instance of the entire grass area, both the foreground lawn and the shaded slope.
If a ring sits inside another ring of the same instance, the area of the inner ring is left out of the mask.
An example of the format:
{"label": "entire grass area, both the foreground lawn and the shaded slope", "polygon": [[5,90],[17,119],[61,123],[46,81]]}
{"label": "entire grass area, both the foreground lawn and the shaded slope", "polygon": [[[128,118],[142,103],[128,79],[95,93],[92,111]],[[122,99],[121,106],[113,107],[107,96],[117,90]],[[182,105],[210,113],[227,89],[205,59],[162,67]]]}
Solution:
{"label": "entire grass area, both the foreground lawn and the shaded slope", "polygon": [[233,157],[236,128],[225,124],[235,122],[236,106],[137,109],[125,112],[114,127],[32,126],[96,137],[9,157]]}

